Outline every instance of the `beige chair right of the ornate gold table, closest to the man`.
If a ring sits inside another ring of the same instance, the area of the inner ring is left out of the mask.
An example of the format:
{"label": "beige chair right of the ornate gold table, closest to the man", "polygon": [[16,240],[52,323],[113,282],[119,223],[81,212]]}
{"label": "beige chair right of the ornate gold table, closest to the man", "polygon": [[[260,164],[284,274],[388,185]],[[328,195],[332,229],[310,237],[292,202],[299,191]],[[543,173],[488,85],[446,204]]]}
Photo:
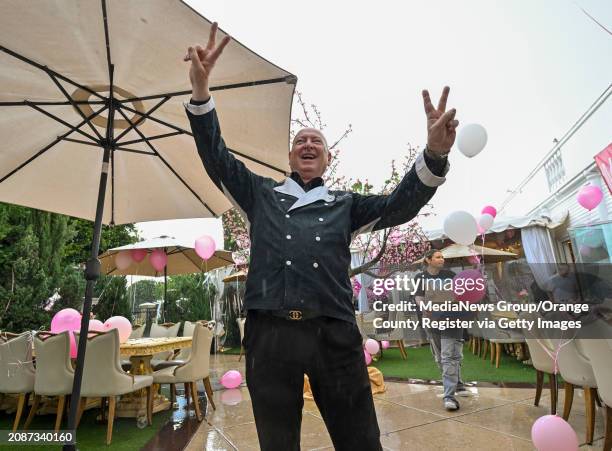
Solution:
{"label": "beige chair right of the ornate gold table, closest to the man", "polygon": [[213,333],[208,327],[196,324],[189,359],[180,365],[163,368],[153,373],[156,384],[185,384],[185,393],[191,393],[198,421],[202,421],[203,416],[200,411],[197,381],[203,380],[208,400],[213,409],[216,409],[209,377],[212,339]]}

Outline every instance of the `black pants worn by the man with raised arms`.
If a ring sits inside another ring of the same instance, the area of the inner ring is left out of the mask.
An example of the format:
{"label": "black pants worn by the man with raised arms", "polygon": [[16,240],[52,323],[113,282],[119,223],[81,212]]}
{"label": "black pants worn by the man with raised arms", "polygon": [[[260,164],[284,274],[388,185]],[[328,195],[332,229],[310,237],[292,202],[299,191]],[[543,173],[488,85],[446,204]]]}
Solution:
{"label": "black pants worn by the man with raised arms", "polygon": [[336,450],[382,450],[361,343],[347,321],[248,312],[246,379],[263,451],[300,449],[304,374]]}

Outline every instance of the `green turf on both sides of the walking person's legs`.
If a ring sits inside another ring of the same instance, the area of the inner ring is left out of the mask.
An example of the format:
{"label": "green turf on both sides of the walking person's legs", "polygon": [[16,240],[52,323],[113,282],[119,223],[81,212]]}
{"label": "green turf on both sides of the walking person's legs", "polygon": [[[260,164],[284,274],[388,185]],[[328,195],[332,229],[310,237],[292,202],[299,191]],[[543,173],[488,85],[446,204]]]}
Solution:
{"label": "green turf on both sides of the walking person's legs", "polygon": [[[429,346],[406,348],[407,360],[402,360],[399,349],[384,351],[383,357],[372,365],[385,377],[399,379],[441,380],[440,370],[433,360]],[[461,377],[465,382],[528,382],[535,384],[536,372],[533,366],[525,365],[508,354],[502,354],[499,368],[486,360],[473,355],[468,346],[463,348]]]}

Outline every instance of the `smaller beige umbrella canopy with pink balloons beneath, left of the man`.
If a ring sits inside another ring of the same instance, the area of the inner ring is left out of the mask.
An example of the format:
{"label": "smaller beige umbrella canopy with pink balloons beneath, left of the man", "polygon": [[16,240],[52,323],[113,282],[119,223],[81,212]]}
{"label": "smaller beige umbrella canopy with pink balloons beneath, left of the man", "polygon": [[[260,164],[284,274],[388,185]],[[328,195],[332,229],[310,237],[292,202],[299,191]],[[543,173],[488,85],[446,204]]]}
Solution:
{"label": "smaller beige umbrella canopy with pink balloons beneath, left of the man", "polygon": [[[198,272],[207,272],[212,269],[221,268],[227,265],[233,265],[232,253],[229,251],[215,251],[212,257],[208,260],[202,260],[196,253],[193,246],[181,243],[176,238],[161,236],[150,240],[140,241],[126,246],[109,249],[100,257],[102,264],[102,273],[106,275],[137,275],[137,276],[152,276],[160,277],[164,275],[164,271],[158,272],[149,262],[149,258],[142,260],[140,263],[132,260],[132,264],[126,269],[119,269],[115,265],[115,256],[121,252],[132,249],[164,249],[168,256],[166,263],[166,275],[175,276],[179,274],[192,274]],[[149,254],[150,255],[150,254]]]}

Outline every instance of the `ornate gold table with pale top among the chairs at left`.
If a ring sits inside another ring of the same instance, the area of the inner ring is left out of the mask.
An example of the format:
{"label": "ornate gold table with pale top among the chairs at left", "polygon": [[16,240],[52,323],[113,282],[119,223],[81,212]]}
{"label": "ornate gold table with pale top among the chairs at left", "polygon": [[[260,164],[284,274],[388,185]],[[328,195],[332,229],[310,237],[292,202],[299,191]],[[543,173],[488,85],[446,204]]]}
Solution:
{"label": "ornate gold table with pale top among the chairs at left", "polygon": [[[152,374],[151,359],[158,352],[175,351],[191,347],[192,337],[157,337],[157,338],[133,338],[122,343],[120,346],[121,357],[128,357],[131,363],[130,374],[146,375]],[[159,385],[153,386],[153,413],[167,410],[172,407],[168,398],[159,393]],[[118,417],[132,417],[139,421],[146,421],[147,413],[147,391],[137,390],[121,397],[117,404],[116,415]]]}

